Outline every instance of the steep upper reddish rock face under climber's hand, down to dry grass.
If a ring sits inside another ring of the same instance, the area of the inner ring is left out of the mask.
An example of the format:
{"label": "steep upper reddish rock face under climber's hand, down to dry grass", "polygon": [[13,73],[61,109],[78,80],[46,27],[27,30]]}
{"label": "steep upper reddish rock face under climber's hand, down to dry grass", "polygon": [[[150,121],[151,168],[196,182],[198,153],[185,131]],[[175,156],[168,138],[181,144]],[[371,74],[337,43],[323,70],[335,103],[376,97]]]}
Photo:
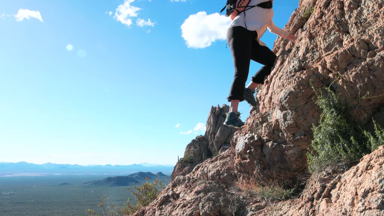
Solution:
{"label": "steep upper reddish rock face under climber's hand, down to dry grass", "polygon": [[[260,107],[251,110],[232,140],[237,171],[281,178],[288,185],[305,179],[311,126],[320,115],[311,83],[316,89],[331,86],[344,98],[352,122],[366,128],[372,117],[382,122],[383,97],[372,96],[384,90],[383,5],[382,0],[300,1],[285,26],[298,40],[276,40],[278,59],[257,94]],[[308,20],[303,18],[312,7]],[[371,98],[363,99],[367,92]]]}

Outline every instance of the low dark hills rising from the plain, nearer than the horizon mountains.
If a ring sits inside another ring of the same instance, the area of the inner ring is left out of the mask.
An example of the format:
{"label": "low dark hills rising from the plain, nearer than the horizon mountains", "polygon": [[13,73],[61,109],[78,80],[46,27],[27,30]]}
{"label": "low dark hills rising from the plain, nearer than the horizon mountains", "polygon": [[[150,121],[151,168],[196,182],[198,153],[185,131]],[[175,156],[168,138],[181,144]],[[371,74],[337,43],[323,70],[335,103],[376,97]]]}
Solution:
{"label": "low dark hills rising from the plain, nearer than the horizon mountains", "polygon": [[142,183],[146,182],[146,177],[151,181],[153,179],[159,178],[162,182],[167,183],[169,176],[165,175],[162,172],[158,172],[153,174],[151,172],[138,172],[133,173],[128,176],[114,176],[104,178],[98,181],[90,181],[84,184],[88,184],[89,186],[109,186],[109,187],[119,187],[119,186],[129,186],[133,183]]}

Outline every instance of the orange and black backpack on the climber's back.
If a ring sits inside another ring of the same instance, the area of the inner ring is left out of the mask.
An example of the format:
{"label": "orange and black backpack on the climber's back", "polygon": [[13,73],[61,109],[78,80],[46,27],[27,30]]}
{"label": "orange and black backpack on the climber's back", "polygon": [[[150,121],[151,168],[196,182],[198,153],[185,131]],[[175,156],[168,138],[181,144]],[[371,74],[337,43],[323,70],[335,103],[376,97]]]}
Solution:
{"label": "orange and black backpack on the climber's back", "polygon": [[[249,10],[254,7],[262,7],[262,8],[272,8],[272,1],[262,2],[258,5],[249,5],[251,0],[227,0],[227,4],[223,9],[220,11],[222,13],[225,8],[227,8],[227,13],[225,14],[226,17],[231,16],[232,20],[237,15],[239,15],[242,12],[245,12],[246,10]],[[232,13],[234,13],[232,15]]]}

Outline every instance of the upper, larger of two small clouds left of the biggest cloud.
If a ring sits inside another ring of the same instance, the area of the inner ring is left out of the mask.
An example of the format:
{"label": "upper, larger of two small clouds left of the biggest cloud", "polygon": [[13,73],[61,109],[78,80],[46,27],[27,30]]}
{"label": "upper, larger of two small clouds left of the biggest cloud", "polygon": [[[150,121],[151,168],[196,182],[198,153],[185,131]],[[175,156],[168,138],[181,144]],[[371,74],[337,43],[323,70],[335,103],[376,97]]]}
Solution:
{"label": "upper, larger of two small clouds left of the biggest cloud", "polygon": [[116,13],[113,18],[130,27],[132,25],[131,17],[137,17],[137,12],[141,10],[141,8],[131,5],[134,1],[135,0],[124,0],[124,3],[116,8]]}

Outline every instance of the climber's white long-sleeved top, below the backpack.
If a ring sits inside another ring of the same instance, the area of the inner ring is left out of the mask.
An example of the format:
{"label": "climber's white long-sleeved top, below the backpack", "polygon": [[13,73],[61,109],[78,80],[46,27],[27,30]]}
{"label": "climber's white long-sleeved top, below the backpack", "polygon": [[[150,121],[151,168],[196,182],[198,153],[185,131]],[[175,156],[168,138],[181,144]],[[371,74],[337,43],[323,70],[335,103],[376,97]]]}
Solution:
{"label": "climber's white long-sleeved top, below the backpack", "polygon": [[[268,2],[268,0],[251,0],[248,6],[255,6],[262,2]],[[253,7],[237,15],[229,27],[242,26],[250,31],[257,31],[256,40],[260,43],[260,45],[266,47],[266,44],[260,41],[260,38],[263,36],[267,28],[270,32],[283,38],[287,38],[290,35],[289,32],[275,26],[272,18],[272,8]]]}

